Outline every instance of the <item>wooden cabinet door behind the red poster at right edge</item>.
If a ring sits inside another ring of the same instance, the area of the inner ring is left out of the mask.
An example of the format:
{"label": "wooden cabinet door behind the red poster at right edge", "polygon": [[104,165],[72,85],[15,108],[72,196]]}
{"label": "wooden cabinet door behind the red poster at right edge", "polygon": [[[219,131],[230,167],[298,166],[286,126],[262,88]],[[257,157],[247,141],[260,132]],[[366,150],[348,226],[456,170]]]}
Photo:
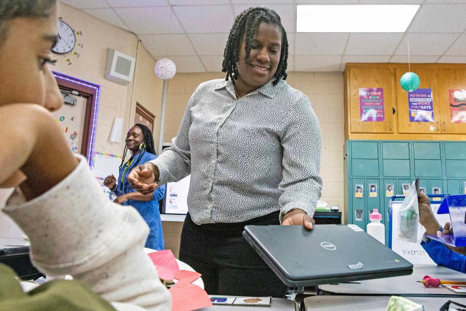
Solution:
{"label": "wooden cabinet door behind the red poster at right edge", "polygon": [[[466,133],[466,123],[453,123],[451,121],[449,89],[466,89],[466,67],[437,69],[437,84],[440,100],[441,132],[450,134]],[[466,106],[461,106],[464,109]]]}

